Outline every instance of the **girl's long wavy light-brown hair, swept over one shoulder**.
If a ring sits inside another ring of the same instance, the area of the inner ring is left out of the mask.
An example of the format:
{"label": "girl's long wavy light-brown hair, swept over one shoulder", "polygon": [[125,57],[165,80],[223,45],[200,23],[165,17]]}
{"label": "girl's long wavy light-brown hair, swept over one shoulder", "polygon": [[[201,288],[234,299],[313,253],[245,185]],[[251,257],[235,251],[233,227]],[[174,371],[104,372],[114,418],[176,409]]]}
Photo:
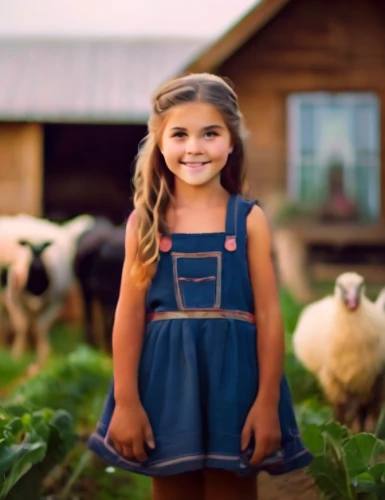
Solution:
{"label": "girl's long wavy light-brown hair, swept over one shoulder", "polygon": [[132,275],[140,287],[147,286],[156,271],[159,236],[167,233],[165,209],[173,192],[174,176],[159,149],[164,118],[173,106],[188,102],[211,104],[222,114],[233,152],[221,171],[221,184],[230,194],[240,194],[243,190],[245,129],[238,98],[229,80],[202,73],[164,84],[153,97],[148,134],[142,141],[134,175],[138,251]]}

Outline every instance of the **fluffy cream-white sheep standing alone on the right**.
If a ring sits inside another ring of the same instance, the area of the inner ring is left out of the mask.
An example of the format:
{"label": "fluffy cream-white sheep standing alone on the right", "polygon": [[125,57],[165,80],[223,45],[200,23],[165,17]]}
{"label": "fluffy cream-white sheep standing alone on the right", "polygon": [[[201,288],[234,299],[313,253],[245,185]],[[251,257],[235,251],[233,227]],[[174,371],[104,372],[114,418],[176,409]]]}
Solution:
{"label": "fluffy cream-white sheep standing alone on the right", "polygon": [[385,318],[364,289],[362,276],[341,274],[333,296],[305,307],[293,346],[317,376],[335,417],[373,430],[383,398]]}

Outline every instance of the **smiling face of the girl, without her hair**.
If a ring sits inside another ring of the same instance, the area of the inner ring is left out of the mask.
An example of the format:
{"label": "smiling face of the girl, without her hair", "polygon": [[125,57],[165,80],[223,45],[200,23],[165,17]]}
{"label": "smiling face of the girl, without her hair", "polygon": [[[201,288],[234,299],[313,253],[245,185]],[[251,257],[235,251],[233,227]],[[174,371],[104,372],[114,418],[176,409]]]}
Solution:
{"label": "smiling face of the girl, without her hair", "polygon": [[219,181],[233,148],[220,112],[210,104],[192,102],[171,108],[165,120],[160,149],[175,177],[192,186]]}

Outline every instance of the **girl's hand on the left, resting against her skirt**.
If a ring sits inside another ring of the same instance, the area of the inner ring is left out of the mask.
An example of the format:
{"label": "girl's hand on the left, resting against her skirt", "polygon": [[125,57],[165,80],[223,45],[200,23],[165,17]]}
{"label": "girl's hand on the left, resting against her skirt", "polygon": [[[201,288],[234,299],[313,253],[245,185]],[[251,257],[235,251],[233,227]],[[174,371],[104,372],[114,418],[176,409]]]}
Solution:
{"label": "girl's hand on the left, resting against her skirt", "polygon": [[115,406],[109,436],[118,453],[139,462],[147,460],[145,445],[155,448],[150,422],[139,401]]}

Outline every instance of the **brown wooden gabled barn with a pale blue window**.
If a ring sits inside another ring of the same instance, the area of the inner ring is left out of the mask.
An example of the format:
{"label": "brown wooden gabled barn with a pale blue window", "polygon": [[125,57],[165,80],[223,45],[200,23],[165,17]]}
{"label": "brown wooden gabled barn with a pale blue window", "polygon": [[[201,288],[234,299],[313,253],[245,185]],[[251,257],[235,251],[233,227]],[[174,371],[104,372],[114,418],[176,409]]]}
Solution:
{"label": "brown wooden gabled barn with a pale blue window", "polygon": [[329,250],[329,262],[365,264],[385,283],[385,3],[264,0],[184,69],[192,72],[235,85],[253,196],[280,191],[318,213],[337,174],[350,220],[296,230]]}

